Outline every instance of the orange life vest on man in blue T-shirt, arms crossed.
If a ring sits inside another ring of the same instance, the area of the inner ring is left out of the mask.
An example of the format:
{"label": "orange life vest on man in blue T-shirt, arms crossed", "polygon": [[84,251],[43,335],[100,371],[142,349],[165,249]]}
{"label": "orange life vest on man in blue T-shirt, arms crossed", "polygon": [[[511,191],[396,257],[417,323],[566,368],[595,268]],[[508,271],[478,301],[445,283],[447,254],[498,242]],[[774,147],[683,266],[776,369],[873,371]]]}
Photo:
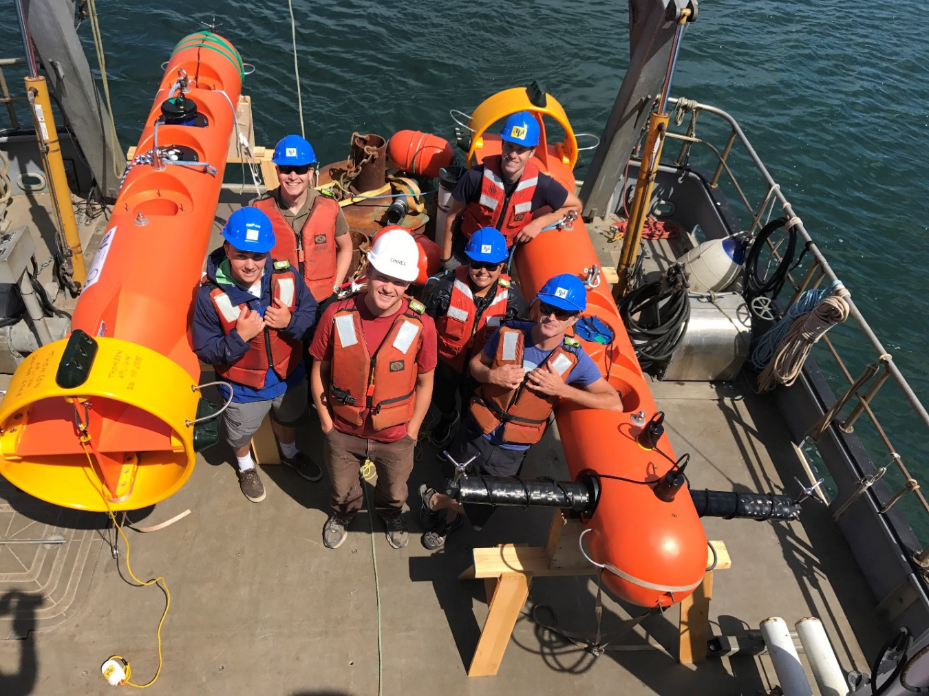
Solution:
{"label": "orange life vest on man in blue T-shirt, arms crossed", "polygon": [[[517,365],[522,367],[523,329],[502,326],[497,352],[492,367]],[[566,336],[543,362],[564,378],[577,365],[580,343]],[[542,367],[542,366],[539,366]],[[486,434],[495,431],[504,423],[502,440],[514,445],[534,445],[542,439],[545,423],[552,414],[558,397],[533,392],[526,386],[524,378],[516,389],[507,389],[496,384],[481,384],[471,399],[471,415],[478,421]]]}

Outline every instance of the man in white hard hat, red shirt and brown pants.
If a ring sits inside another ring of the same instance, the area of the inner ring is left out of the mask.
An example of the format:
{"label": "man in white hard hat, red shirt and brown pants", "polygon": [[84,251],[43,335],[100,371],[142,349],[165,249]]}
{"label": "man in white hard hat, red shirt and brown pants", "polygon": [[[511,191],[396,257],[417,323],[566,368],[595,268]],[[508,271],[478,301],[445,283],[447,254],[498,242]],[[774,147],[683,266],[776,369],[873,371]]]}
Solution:
{"label": "man in white hard hat, red shirt and brown pants", "polygon": [[342,545],[361,509],[365,459],[377,470],[374,508],[388,543],[403,548],[409,538],[401,510],[437,361],[436,325],[421,303],[404,295],[418,264],[409,232],[378,237],[368,253],[367,290],[329,306],[309,349],[315,358],[310,391],[332,483],[333,511],[322,528],[326,548]]}

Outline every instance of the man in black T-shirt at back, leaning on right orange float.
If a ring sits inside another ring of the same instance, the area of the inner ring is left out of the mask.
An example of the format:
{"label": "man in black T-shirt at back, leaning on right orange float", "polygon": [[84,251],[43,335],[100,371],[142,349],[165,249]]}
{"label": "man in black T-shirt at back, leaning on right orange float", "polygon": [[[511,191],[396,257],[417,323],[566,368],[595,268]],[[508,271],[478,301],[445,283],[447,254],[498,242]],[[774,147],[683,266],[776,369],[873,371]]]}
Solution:
{"label": "man in black T-shirt at back, leaning on right orange float", "polygon": [[467,263],[464,244],[481,227],[499,229],[509,248],[535,238],[570,210],[581,213],[581,200],[533,161],[540,128],[529,111],[507,118],[500,137],[501,154],[468,170],[451,192],[442,244],[446,267]]}

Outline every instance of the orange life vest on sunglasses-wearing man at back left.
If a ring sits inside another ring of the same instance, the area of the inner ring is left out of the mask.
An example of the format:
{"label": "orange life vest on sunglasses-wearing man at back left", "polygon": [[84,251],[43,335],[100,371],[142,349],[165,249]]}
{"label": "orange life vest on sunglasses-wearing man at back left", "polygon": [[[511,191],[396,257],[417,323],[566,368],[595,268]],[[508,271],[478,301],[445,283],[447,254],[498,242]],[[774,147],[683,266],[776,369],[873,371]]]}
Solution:
{"label": "orange life vest on sunglasses-wearing man at back left", "polygon": [[268,215],[274,228],[274,248],[271,255],[287,259],[307,283],[307,288],[322,302],[333,294],[335,284],[335,220],[339,214],[336,200],[319,194],[313,200],[307,222],[300,234],[281,213],[275,196],[255,200],[255,208]]}

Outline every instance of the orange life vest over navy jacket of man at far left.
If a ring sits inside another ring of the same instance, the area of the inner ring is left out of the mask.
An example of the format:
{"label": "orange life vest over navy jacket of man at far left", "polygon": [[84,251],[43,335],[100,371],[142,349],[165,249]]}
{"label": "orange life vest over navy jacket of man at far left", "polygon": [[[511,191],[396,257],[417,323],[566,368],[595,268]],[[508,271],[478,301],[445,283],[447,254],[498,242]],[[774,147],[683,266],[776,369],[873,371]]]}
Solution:
{"label": "orange life vest over navy jacket of man at far left", "polygon": [[[269,263],[270,259],[268,259]],[[280,266],[280,267],[279,267]],[[203,278],[203,283],[213,281]],[[297,277],[289,264],[275,263],[274,273],[271,274],[271,299],[280,300],[291,312],[296,310],[296,282]],[[229,295],[219,287],[210,292],[210,299],[216,309],[216,316],[222,325],[223,335],[228,335],[235,329],[236,320],[247,304],[235,305],[229,300]],[[248,353],[231,365],[216,365],[216,374],[224,380],[238,382],[248,387],[261,389],[265,386],[268,376],[268,367],[271,367],[281,380],[296,369],[303,360],[303,342],[297,341],[288,334],[278,330],[265,329],[248,342]]]}

